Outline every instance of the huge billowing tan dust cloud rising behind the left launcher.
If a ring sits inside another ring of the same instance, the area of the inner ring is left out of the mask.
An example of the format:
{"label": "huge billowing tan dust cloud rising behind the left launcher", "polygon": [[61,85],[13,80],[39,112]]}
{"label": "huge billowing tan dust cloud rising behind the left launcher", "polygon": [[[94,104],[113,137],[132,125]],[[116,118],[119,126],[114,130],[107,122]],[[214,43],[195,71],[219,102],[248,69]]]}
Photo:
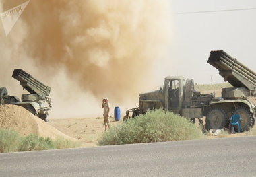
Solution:
{"label": "huge billowing tan dust cloud rising behind the left launcher", "polygon": [[[0,0],[0,10],[24,2]],[[170,15],[167,0],[31,0],[8,36],[0,27],[0,85],[20,94],[11,73],[28,71],[52,87],[54,118],[101,116],[104,96],[135,107],[152,90],[152,63],[168,57]]]}

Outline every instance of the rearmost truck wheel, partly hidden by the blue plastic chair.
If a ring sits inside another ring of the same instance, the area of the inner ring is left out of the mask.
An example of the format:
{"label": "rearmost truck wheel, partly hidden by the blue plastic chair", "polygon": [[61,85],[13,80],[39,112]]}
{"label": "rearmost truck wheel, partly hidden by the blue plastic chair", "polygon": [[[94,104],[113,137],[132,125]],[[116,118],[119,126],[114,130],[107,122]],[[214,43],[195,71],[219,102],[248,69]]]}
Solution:
{"label": "rearmost truck wheel, partly hidden by the blue plastic chair", "polygon": [[[234,110],[234,114],[239,114],[241,118],[240,129],[241,131],[249,131],[254,124],[253,115],[250,113],[249,109],[245,106],[238,107]],[[235,126],[235,130],[238,131],[238,127]]]}

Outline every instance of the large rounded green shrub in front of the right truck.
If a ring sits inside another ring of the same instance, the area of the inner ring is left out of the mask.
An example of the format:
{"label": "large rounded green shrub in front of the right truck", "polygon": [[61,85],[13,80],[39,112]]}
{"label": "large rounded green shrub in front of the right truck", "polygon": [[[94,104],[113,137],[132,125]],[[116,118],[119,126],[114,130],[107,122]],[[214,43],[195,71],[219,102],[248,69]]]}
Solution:
{"label": "large rounded green shrub in front of the right truck", "polygon": [[201,139],[201,130],[189,120],[166,112],[152,110],[106,131],[99,145],[121,145]]}

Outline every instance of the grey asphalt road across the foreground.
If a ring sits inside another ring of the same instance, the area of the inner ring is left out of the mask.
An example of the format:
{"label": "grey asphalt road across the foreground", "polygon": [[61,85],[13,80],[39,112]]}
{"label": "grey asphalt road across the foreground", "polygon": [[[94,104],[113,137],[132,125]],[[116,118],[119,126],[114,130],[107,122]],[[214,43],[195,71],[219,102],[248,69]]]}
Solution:
{"label": "grey asphalt road across the foreground", "polygon": [[256,176],[256,137],[0,154],[0,176]]}

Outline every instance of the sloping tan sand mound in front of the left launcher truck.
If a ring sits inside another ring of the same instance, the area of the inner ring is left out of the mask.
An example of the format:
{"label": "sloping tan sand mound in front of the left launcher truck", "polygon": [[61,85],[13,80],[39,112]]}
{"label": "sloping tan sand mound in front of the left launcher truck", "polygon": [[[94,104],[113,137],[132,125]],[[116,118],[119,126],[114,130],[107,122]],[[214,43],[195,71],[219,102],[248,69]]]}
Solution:
{"label": "sloping tan sand mound in front of the left launcher truck", "polygon": [[63,137],[75,140],[61,133],[61,131],[34,116],[21,106],[12,104],[0,105],[0,129],[13,129],[22,136],[33,133],[41,137],[50,137],[51,139]]}

